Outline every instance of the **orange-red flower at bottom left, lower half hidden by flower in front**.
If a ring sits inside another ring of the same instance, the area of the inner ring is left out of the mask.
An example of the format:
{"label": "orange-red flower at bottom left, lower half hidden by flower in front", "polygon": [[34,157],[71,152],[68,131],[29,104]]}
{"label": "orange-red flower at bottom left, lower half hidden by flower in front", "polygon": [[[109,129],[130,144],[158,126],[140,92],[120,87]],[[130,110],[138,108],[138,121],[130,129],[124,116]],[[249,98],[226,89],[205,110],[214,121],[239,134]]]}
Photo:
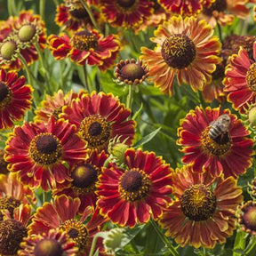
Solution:
{"label": "orange-red flower at bottom left, lower half hidden by flower in front", "polygon": [[[32,223],[28,226],[28,235],[43,234],[52,228],[59,228],[67,232],[68,236],[76,242],[79,248],[78,255],[89,255],[92,238],[100,231],[100,226],[106,219],[98,214],[97,209],[92,214],[90,207],[87,207],[83,216],[77,219],[79,206],[79,198],[73,199],[65,195],[56,196],[54,203],[44,203],[42,207],[36,209]],[[90,217],[92,218],[88,221]],[[103,251],[102,241],[99,239],[97,241],[99,241],[97,247]]]}

